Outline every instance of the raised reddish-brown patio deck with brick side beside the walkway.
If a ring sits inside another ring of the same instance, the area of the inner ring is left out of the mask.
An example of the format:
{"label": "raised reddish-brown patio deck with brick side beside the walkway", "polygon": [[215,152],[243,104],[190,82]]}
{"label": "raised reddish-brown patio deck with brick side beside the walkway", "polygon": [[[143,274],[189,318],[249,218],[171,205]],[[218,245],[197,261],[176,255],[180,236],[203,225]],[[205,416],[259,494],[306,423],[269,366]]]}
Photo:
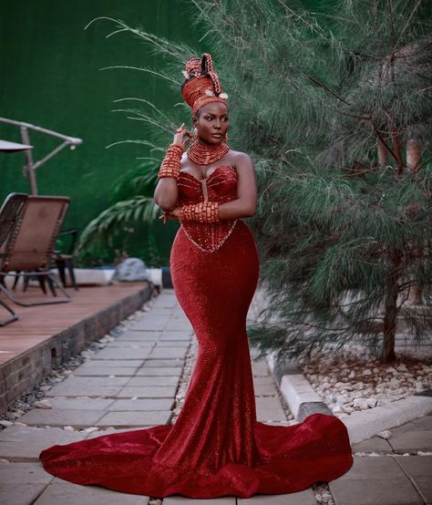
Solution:
{"label": "raised reddish-brown patio deck with brick side beside the walkway", "polygon": [[[78,291],[68,291],[72,301],[67,304],[14,305],[18,321],[0,328],[0,412],[48,375],[53,366],[76,355],[139,309],[150,295],[147,282],[81,286]],[[41,301],[44,296],[37,287],[16,294],[22,301]]]}

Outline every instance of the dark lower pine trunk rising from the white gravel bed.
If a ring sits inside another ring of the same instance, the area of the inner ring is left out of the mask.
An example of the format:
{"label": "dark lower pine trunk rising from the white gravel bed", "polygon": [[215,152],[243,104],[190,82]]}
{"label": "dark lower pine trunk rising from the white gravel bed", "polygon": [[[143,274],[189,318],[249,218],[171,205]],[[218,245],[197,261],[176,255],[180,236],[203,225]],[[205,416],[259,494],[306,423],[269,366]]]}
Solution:
{"label": "dark lower pine trunk rising from the white gravel bed", "polygon": [[384,315],[384,335],[383,352],[381,361],[383,363],[392,363],[396,360],[395,354],[395,334],[396,334],[396,316],[397,316],[397,294],[399,294],[398,278],[401,257],[396,254],[392,258],[392,271],[387,279],[386,292],[386,312]]}

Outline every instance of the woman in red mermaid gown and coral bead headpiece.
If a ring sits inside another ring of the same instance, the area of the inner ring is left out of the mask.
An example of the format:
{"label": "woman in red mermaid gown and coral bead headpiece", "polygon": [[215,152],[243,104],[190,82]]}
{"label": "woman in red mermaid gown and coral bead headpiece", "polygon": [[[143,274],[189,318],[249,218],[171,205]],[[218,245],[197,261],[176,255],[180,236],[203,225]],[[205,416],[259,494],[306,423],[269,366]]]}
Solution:
{"label": "woman in red mermaid gown and coral bead headpiece", "polygon": [[242,222],[255,212],[247,154],[226,143],[227,96],[211,56],[186,64],[182,95],[196,135],[184,125],[159,170],[154,198],[179,219],[170,272],[199,351],[173,426],[160,425],[48,448],[46,470],[78,484],[166,497],[282,494],[335,479],[352,463],[345,425],[313,414],[292,427],[256,420],[246,315],[258,283],[258,253]]}

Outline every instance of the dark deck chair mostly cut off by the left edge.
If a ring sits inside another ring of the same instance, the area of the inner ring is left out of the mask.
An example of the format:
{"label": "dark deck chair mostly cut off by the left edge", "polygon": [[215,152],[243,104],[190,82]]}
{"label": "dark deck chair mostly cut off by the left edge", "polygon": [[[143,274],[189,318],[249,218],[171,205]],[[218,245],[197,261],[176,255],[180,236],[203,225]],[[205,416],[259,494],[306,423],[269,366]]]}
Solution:
{"label": "dark deck chair mostly cut off by the left edge", "polygon": [[[5,252],[5,243],[14,231],[16,222],[21,219],[26,205],[27,195],[25,193],[9,194],[0,208],[0,258]],[[1,261],[1,260],[0,260]],[[0,277],[0,283],[4,283],[4,277]],[[0,326],[9,325],[18,319],[15,311],[0,299],[0,305],[11,314],[8,319],[1,320]]]}

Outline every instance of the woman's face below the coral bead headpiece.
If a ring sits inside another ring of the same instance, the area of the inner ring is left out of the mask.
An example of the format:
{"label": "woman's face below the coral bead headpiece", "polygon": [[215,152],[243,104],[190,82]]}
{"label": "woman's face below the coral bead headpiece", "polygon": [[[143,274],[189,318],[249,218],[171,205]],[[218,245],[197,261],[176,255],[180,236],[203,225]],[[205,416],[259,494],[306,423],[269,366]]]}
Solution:
{"label": "woman's face below the coral bead headpiece", "polygon": [[204,144],[220,144],[230,128],[228,107],[221,102],[208,103],[198,110],[193,124]]}

